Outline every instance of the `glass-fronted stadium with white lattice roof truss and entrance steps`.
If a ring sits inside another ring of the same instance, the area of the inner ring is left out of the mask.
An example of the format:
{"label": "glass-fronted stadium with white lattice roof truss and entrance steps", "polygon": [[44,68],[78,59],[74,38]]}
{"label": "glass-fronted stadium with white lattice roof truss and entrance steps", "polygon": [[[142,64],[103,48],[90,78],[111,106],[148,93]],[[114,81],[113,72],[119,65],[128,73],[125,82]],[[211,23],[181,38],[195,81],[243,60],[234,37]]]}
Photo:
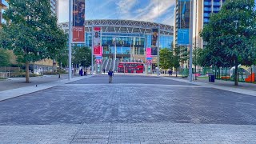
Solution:
{"label": "glass-fronted stadium with white lattice roof truss and entrance steps", "polygon": [[[68,33],[68,22],[61,22],[59,26]],[[95,26],[102,29],[102,70],[118,70],[119,62],[146,62],[146,47],[151,46],[152,29],[160,27],[160,48],[171,49],[174,40],[174,27],[165,24],[116,19],[86,20],[86,46],[91,46]],[[155,63],[157,58],[153,58],[153,67]]]}

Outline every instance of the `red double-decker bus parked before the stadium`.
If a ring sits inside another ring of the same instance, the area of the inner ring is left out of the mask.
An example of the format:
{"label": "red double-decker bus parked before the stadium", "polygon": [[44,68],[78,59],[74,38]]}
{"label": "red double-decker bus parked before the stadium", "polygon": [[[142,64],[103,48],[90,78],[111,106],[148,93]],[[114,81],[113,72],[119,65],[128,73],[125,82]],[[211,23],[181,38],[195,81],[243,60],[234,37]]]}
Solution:
{"label": "red double-decker bus parked before the stadium", "polygon": [[[125,71],[124,71],[125,70]],[[143,73],[143,62],[119,62],[118,73]]]}

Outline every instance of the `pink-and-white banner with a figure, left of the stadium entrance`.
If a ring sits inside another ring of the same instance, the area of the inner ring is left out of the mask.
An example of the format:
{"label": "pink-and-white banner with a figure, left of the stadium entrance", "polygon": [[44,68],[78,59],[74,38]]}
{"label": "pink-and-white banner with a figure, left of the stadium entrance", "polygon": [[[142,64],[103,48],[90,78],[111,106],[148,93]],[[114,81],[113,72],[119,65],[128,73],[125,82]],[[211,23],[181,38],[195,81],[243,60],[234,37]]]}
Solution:
{"label": "pink-and-white banner with a figure, left of the stadium entrance", "polygon": [[100,27],[94,27],[93,30],[94,55],[102,57],[102,33]]}

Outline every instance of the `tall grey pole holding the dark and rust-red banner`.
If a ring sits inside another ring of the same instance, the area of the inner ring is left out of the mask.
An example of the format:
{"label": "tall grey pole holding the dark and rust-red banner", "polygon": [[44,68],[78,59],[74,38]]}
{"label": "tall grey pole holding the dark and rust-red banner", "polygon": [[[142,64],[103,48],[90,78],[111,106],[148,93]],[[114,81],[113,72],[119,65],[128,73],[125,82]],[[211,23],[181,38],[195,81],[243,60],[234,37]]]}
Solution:
{"label": "tall grey pole holding the dark and rust-red banner", "polygon": [[71,80],[71,75],[72,75],[72,59],[71,59],[71,52],[72,52],[72,47],[71,47],[71,42],[72,42],[72,0],[69,1],[69,80]]}

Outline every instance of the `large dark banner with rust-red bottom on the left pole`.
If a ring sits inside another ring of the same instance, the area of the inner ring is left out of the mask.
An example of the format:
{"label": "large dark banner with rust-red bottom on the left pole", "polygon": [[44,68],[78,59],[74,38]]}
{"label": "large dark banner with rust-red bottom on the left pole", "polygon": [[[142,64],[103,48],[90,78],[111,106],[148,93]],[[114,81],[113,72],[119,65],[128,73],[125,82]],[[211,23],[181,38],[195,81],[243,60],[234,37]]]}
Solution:
{"label": "large dark banner with rust-red bottom on the left pole", "polygon": [[75,43],[85,42],[85,0],[73,0],[73,40]]}

